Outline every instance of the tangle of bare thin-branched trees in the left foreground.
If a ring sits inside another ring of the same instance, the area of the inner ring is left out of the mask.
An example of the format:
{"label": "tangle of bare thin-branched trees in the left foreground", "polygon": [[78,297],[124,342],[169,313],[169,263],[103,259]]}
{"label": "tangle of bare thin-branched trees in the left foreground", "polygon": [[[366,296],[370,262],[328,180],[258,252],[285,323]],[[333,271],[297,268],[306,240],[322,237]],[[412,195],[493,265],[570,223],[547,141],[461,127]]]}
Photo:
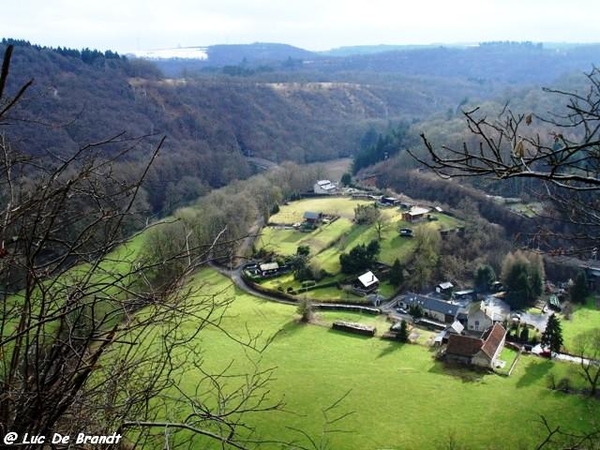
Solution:
{"label": "tangle of bare thin-branched trees in the left foreground", "polygon": [[[12,50],[0,76],[0,126],[32,83],[7,97]],[[198,439],[251,448],[260,439],[245,414],[281,407],[268,395],[272,369],[260,364],[269,339],[229,335],[246,349],[250,373],[211,373],[195,346],[203,330],[226,332],[232,297],[186,281],[232,243],[218,233],[198,246],[187,234],[160,254],[141,251],[144,236],[124,235],[142,217],[142,184],[164,138],[133,175],[118,163],[151,138],[120,134],[32,157],[0,135],[0,435],[118,432],[123,448],[154,439],[165,448]],[[194,395],[179,388],[190,367]],[[84,446],[56,446],[64,447]]]}

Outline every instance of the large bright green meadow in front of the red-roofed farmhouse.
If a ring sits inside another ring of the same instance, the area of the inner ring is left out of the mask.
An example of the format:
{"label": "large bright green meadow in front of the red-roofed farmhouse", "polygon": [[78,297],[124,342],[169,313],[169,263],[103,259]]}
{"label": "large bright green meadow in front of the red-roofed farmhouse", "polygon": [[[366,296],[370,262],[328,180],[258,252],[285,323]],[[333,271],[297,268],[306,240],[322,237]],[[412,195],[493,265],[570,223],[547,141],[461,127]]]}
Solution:
{"label": "large bright green meadow in front of the red-roofed farmhouse", "polygon": [[[209,270],[196,282],[205,283],[205,293],[221,292],[229,284]],[[233,288],[220,295],[235,295],[223,321],[231,334],[241,337],[249,329],[263,336],[275,335],[260,367],[276,367],[269,397],[283,399],[286,412],[246,418],[265,439],[301,439],[293,429],[318,438],[325,422],[323,409],[345,395],[329,417],[351,413],[335,424],[346,432],[327,435],[328,448],[439,449],[448,448],[451,439],[460,448],[534,448],[543,436],[541,415],[562,429],[579,430],[600,413],[597,401],[547,389],[547,376],[560,375],[567,363],[525,356],[511,377],[449,370],[423,345],[300,325],[292,306],[265,302]],[[324,323],[342,318],[387,326],[376,317],[320,314]],[[191,320],[185,325],[195,326]],[[217,330],[203,331],[197,347],[212,370],[229,364],[239,371],[251,367],[244,362],[244,350]],[[195,392],[198,377],[190,367],[182,370],[185,377],[180,388]],[[197,448],[220,447],[203,443]]]}

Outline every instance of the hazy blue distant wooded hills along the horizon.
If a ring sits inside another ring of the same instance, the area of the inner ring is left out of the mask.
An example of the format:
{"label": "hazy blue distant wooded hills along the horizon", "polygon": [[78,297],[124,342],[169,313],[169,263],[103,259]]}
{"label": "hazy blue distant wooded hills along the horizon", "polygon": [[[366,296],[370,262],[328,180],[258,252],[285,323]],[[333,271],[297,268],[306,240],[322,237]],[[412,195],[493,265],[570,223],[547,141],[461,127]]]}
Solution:
{"label": "hazy blue distant wooded hills along the horizon", "polygon": [[566,73],[589,71],[600,62],[600,44],[561,45],[490,42],[474,46],[355,46],[311,53],[282,44],[224,45],[208,48],[204,60],[161,61],[170,76],[183,72],[222,70],[238,66],[238,74],[261,66],[296,73],[336,76],[349,72],[387,73],[503,82],[546,84]]}

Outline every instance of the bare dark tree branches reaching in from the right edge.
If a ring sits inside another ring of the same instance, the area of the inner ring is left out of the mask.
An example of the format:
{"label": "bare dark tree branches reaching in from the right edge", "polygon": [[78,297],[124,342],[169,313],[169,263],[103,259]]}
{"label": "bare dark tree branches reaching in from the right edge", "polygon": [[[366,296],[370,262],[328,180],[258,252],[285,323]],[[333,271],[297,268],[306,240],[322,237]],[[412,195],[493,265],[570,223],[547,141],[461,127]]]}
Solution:
{"label": "bare dark tree branches reaching in from the right edge", "polygon": [[586,92],[545,89],[566,104],[547,117],[504,108],[494,117],[480,108],[465,111],[476,143],[436,147],[425,135],[425,156],[410,154],[443,178],[489,177],[533,180],[567,224],[570,245],[594,253],[600,238],[600,70],[587,74]]}

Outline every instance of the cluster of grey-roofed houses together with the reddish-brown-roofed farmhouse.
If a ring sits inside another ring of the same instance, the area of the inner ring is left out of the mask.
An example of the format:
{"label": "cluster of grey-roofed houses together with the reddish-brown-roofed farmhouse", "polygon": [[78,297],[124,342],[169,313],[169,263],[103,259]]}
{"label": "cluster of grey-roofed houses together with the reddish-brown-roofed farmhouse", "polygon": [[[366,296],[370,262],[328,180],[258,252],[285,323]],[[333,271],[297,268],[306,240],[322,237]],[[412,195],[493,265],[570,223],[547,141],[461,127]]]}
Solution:
{"label": "cluster of grey-roofed houses together with the reddish-brown-roofed farmhouse", "polygon": [[495,297],[477,301],[471,290],[454,292],[445,299],[451,289],[451,283],[441,283],[436,286],[435,296],[404,295],[398,300],[398,307],[401,311],[419,308],[423,317],[418,321],[439,330],[434,343],[445,344],[445,361],[497,367],[506,339],[502,323],[510,308]]}

